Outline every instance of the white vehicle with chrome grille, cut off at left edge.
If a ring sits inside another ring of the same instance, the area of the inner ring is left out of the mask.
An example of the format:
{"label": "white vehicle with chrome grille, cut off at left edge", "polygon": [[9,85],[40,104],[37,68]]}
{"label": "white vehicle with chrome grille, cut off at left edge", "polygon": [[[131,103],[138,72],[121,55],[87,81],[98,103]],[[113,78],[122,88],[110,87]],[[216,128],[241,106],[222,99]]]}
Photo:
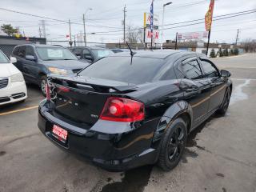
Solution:
{"label": "white vehicle with chrome grille, cut off at left edge", "polygon": [[9,61],[0,50],[0,106],[27,98],[26,83],[22,73],[12,64],[14,62],[16,58]]}

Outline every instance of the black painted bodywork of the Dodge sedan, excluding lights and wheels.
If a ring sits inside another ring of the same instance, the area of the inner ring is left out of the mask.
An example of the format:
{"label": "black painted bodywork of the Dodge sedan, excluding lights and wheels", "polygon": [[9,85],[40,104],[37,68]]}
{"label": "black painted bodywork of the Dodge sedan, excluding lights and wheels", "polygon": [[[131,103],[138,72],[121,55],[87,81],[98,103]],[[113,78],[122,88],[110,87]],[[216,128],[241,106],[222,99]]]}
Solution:
{"label": "black painted bodywork of the Dodge sedan, excluding lights and wheels", "polygon": [[[110,57],[118,62],[120,57],[130,57],[130,54],[114,54]],[[210,74],[202,70],[202,59],[208,59],[201,54],[138,51],[135,57],[161,61],[162,66],[150,82],[134,84],[81,75],[50,76],[50,85],[55,89],[54,96],[51,101],[42,101],[38,110],[38,127],[42,134],[63,150],[79,154],[107,170],[129,170],[154,164],[158,161],[162,136],[173,120],[184,118],[190,132],[218,110],[226,88],[232,86],[229,77],[221,76],[213,63],[214,71],[210,71]],[[198,63],[197,70],[202,74],[181,70],[182,65],[190,65],[190,70],[193,70],[191,61]],[[92,66],[95,64],[97,62]],[[130,66],[127,67],[129,69]],[[189,78],[187,75],[194,76]],[[58,90],[58,86],[69,88],[70,91]],[[145,119],[140,122],[99,119],[106,99],[110,97],[143,102]],[[68,131],[66,144],[52,136],[54,124]]]}

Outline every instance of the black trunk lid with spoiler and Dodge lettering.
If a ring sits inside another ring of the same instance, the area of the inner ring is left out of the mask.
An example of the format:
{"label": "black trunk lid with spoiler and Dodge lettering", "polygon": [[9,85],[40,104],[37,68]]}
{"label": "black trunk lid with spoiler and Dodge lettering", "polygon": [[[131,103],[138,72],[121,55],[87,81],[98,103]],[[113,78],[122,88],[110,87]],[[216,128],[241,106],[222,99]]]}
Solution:
{"label": "black trunk lid with spoiler and Dodge lettering", "polygon": [[50,77],[49,82],[53,91],[54,112],[90,126],[98,121],[107,98],[136,89],[126,82],[81,76]]}

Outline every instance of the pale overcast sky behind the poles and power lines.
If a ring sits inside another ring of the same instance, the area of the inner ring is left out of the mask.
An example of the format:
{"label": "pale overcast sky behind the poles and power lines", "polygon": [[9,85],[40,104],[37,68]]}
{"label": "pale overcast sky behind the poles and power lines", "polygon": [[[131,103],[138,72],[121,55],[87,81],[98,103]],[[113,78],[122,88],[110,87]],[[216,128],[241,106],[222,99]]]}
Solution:
{"label": "pale overcast sky behind the poles and power lines", "polygon": [[[210,3],[210,0],[170,1],[173,4],[166,6],[165,24],[204,18]],[[162,24],[162,5],[170,1],[154,0],[154,14],[159,15],[160,25]],[[82,33],[82,14],[88,8],[92,8],[93,10],[88,11],[86,14],[86,33],[96,32],[96,34],[88,34],[87,42],[119,42],[122,41],[122,10],[125,4],[127,10],[126,24],[142,27],[143,13],[149,12],[150,2],[150,0],[1,0],[0,7],[65,21],[70,19],[71,22],[77,23],[71,25],[72,34]],[[216,0],[214,16],[254,9],[256,9],[255,0]],[[0,10],[0,24],[10,23],[13,26],[19,26],[21,31],[24,30],[26,36],[38,37],[40,20],[42,18]],[[240,30],[240,40],[256,38],[256,14],[247,14],[214,22],[211,42],[234,42],[237,29]],[[165,30],[164,38],[165,40],[174,39],[176,32],[203,30],[205,30],[203,23]],[[104,31],[106,33],[97,34],[97,32]],[[69,34],[69,26],[63,22],[54,22],[46,19],[46,34],[47,39],[66,40],[66,34]]]}

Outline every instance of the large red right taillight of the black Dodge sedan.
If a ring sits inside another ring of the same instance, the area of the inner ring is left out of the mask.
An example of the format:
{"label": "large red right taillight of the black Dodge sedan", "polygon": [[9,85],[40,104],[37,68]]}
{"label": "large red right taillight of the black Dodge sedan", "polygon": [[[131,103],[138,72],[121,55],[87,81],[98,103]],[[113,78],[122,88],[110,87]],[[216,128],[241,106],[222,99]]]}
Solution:
{"label": "large red right taillight of the black Dodge sedan", "polygon": [[100,119],[114,122],[138,122],[145,117],[144,104],[129,98],[108,98]]}

